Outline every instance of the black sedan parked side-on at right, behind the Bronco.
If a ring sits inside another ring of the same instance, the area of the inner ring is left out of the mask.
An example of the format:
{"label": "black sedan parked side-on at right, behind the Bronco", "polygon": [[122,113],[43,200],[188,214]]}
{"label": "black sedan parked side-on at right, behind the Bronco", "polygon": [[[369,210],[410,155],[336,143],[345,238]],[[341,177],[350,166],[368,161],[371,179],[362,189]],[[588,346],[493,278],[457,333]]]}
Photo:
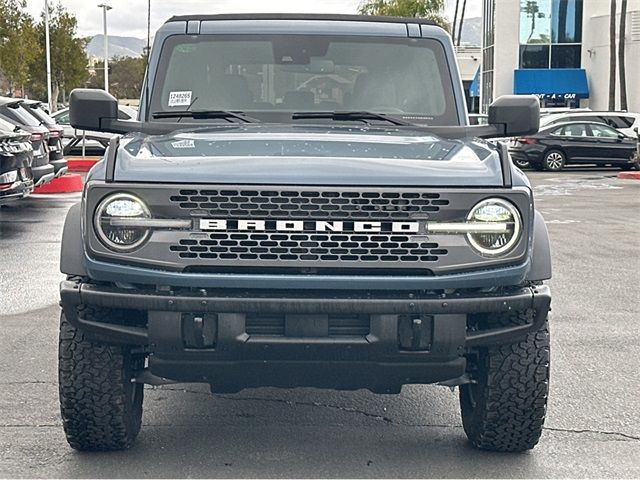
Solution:
{"label": "black sedan parked side-on at right, behind the Bronco", "polygon": [[568,164],[615,165],[638,169],[637,139],[596,122],[568,122],[520,137],[509,147],[513,162],[536,170],[557,172]]}

